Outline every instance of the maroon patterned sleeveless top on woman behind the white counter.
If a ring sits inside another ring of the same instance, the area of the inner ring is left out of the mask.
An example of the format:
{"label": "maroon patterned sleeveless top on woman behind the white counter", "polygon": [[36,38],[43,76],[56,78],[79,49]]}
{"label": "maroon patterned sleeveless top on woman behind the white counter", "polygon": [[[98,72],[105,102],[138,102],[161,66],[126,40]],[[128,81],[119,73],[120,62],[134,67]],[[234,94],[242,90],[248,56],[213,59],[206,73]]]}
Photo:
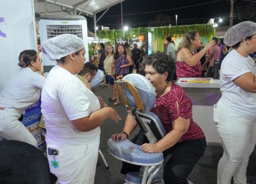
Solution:
{"label": "maroon patterned sleeveless top on woman behind the white counter", "polygon": [[[178,53],[181,51],[177,51]],[[195,55],[195,53],[191,52],[192,55]],[[177,56],[176,55],[176,56]],[[185,61],[178,62],[176,59],[176,75],[177,77],[202,77],[202,66],[200,63],[200,60],[195,66],[188,66]]]}

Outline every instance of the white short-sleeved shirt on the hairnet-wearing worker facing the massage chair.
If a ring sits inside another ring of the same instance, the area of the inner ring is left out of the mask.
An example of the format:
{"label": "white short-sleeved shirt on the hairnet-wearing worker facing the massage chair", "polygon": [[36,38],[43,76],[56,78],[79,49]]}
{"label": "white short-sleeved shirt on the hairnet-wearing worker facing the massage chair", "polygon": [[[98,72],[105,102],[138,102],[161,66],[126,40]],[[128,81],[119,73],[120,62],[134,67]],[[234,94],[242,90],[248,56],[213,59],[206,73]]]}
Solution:
{"label": "white short-sleeved shirt on the hairnet-wearing worker facing the massage chair", "polygon": [[82,145],[99,139],[100,128],[82,132],[72,120],[88,117],[99,110],[98,98],[69,71],[54,66],[41,95],[41,111],[47,129],[47,142]]}

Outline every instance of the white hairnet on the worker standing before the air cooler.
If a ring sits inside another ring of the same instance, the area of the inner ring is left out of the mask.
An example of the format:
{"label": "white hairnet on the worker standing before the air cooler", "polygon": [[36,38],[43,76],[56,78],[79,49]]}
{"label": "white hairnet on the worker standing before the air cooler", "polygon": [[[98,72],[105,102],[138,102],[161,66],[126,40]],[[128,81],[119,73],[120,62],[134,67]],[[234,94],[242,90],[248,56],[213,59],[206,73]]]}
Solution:
{"label": "white hairnet on the worker standing before the air cooler", "polygon": [[51,60],[59,60],[62,57],[75,53],[84,47],[81,38],[73,34],[61,34],[50,38],[41,44],[41,51]]}

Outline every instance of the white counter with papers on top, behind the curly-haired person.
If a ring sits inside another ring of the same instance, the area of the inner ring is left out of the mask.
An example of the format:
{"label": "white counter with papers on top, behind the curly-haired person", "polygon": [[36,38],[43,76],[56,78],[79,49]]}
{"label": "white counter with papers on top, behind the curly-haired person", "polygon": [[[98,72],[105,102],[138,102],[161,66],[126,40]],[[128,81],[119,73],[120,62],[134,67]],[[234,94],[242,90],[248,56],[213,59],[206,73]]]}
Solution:
{"label": "white counter with papers on top, behind the curly-haired person", "polygon": [[221,143],[213,123],[213,105],[221,98],[220,80],[212,78],[179,78],[176,83],[187,93],[193,103],[193,120],[205,133],[209,144]]}

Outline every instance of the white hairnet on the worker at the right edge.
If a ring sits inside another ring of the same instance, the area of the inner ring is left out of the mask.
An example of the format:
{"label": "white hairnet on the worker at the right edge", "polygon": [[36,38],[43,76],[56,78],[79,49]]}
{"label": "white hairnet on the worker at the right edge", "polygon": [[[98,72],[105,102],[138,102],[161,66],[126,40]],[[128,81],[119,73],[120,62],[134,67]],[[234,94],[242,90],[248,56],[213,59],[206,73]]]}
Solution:
{"label": "white hairnet on the worker at the right edge", "polygon": [[224,37],[224,43],[227,46],[233,46],[242,41],[244,37],[251,36],[255,33],[256,23],[252,21],[244,21],[227,30]]}

